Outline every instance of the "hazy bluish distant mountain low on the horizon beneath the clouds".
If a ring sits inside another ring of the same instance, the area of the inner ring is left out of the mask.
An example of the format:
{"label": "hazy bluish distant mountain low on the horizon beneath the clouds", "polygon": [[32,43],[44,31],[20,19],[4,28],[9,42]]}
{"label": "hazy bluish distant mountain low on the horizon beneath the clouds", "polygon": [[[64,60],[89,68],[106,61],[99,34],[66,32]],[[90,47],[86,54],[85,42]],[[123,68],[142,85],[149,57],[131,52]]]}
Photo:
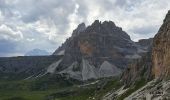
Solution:
{"label": "hazy bluish distant mountain low on the horizon beneath the clouds", "polygon": [[33,49],[25,54],[25,56],[45,56],[45,55],[50,55],[50,53],[41,49]]}

